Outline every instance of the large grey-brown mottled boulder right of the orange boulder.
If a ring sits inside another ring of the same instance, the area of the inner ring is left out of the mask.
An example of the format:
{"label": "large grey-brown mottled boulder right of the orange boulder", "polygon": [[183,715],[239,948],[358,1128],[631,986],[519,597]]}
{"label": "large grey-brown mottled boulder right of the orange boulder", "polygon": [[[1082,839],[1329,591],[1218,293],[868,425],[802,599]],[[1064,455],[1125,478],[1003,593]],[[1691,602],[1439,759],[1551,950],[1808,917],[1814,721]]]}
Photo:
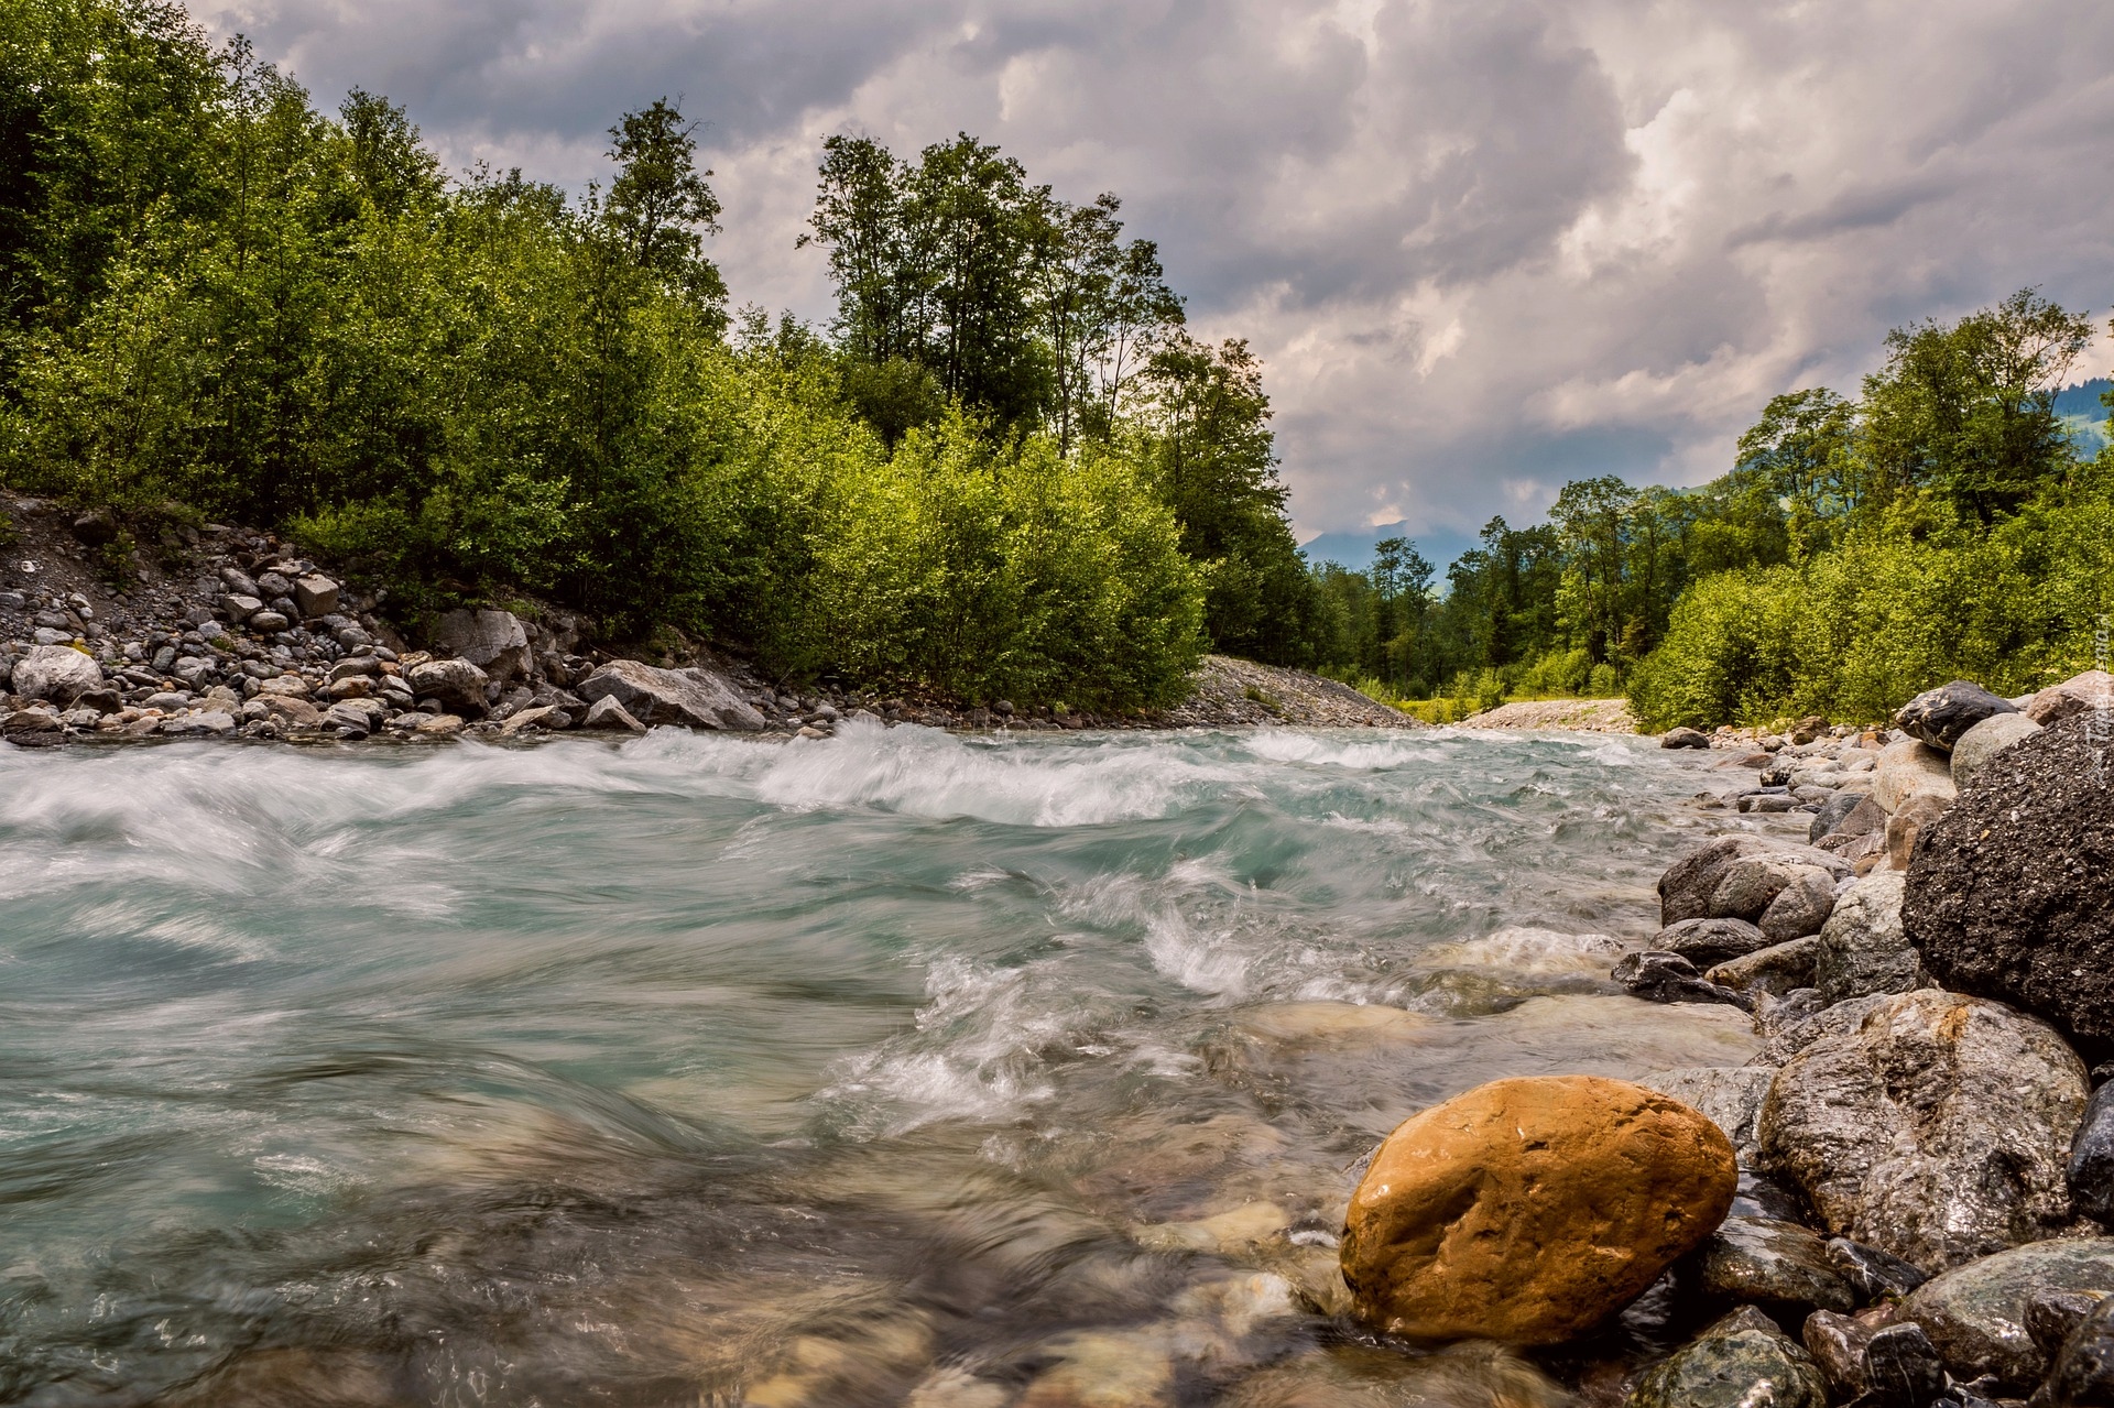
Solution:
{"label": "large grey-brown mottled boulder right of the orange boulder", "polygon": [[2084,1066],[2053,1030],[1922,989],[1791,1057],[1757,1133],[1829,1233],[1936,1273],[2070,1224],[2082,1112]]}

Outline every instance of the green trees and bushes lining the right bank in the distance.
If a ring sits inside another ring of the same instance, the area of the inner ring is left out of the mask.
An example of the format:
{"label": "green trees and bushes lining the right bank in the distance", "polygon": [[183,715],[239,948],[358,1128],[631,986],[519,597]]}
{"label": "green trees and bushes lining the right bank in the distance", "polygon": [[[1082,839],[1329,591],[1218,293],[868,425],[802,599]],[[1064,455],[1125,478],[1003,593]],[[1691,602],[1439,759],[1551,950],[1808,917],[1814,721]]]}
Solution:
{"label": "green trees and bushes lining the right bank in the distance", "polygon": [[[1380,696],[1626,691],[1649,727],[1879,719],[2106,662],[2114,459],[2063,391],[2091,321],[2032,290],[1886,338],[1850,400],[1774,397],[1702,488],[1566,484],[1444,590],[1414,545],[1323,569],[1323,662]],[[2106,408],[2099,408],[2103,419]]]}

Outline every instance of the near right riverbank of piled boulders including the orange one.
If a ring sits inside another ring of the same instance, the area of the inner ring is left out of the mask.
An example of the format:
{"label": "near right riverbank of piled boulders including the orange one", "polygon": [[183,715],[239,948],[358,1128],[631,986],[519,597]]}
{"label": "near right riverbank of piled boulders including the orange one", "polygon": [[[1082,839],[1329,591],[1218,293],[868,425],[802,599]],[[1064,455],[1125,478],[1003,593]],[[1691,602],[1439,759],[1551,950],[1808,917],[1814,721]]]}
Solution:
{"label": "near right riverbank of piled boulders including the orange one", "polygon": [[1351,1201],[1359,1315],[1560,1347],[1628,1408],[2114,1402],[2110,685],[1670,734],[1755,770],[1698,799],[1748,820],[1613,977],[1761,1055],[1402,1125]]}

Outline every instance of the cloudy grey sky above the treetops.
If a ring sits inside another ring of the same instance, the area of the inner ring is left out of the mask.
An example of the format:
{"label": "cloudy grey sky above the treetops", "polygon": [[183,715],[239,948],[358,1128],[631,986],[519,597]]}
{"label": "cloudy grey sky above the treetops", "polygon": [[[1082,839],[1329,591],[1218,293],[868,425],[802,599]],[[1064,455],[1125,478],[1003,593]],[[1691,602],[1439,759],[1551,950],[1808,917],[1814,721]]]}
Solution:
{"label": "cloudy grey sky above the treetops", "polygon": [[[607,178],[679,99],[734,302],[822,321],[829,133],[968,131],[1123,197],[1266,364],[1300,537],[1461,543],[1573,478],[1700,484],[1769,395],[2036,285],[2114,304],[2097,0],[190,0],[452,169]],[[2095,345],[2078,378],[2103,374]],[[1444,554],[1450,556],[1450,550]]]}

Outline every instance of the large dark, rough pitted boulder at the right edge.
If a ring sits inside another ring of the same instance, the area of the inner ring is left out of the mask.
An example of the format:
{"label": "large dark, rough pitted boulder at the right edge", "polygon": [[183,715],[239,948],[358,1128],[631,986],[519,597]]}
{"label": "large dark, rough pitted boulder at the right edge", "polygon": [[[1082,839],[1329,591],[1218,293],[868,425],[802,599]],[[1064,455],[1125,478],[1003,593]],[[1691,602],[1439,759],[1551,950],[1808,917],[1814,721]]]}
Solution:
{"label": "large dark, rough pitted boulder at the right edge", "polygon": [[2072,715],[1932,825],[1900,920],[1955,992],[2038,1013],[2099,1059],[2114,1051],[2114,738]]}

